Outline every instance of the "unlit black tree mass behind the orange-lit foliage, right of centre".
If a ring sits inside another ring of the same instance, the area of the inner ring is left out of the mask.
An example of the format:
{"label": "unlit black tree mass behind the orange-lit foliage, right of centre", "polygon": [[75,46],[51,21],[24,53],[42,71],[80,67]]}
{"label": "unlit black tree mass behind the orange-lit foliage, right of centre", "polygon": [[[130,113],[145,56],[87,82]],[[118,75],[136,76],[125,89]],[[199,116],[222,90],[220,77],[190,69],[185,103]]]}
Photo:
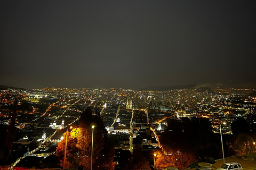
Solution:
{"label": "unlit black tree mass behind the orange-lit foliage, right of centre", "polygon": [[181,118],[171,119],[167,129],[161,135],[160,141],[163,148],[173,152],[187,152],[200,157],[221,156],[221,142],[211,130],[210,121],[206,118]]}

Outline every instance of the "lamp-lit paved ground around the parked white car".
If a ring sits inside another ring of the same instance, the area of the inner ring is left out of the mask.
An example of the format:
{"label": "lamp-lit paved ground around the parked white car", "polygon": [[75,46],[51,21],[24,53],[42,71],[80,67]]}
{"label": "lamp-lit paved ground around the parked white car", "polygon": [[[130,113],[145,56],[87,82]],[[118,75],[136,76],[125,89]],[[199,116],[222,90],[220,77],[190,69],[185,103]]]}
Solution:
{"label": "lamp-lit paved ground around the parked white car", "polygon": [[[212,169],[215,170],[223,165],[223,159],[215,160],[215,164],[212,165]],[[245,170],[256,170],[256,160],[248,161],[243,160],[241,157],[229,157],[225,158],[225,163],[237,162],[240,163]]]}

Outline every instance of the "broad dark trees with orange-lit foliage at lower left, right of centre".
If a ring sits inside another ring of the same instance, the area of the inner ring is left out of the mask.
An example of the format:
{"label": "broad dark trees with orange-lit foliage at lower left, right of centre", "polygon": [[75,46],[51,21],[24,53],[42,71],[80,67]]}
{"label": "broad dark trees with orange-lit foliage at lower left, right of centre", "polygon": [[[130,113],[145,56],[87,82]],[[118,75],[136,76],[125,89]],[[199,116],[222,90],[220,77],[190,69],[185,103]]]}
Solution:
{"label": "broad dark trees with orange-lit foliage at lower left, right of centre", "polygon": [[200,158],[221,156],[220,137],[212,132],[211,122],[206,118],[170,119],[159,140],[164,150],[157,153],[156,162],[160,167],[184,169],[202,161]]}

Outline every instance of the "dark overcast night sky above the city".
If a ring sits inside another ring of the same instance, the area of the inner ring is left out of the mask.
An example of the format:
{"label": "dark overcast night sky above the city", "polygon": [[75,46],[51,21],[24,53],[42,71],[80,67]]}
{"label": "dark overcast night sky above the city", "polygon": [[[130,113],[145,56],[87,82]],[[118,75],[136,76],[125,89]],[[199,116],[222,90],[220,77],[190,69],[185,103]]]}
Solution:
{"label": "dark overcast night sky above the city", "polygon": [[0,84],[256,86],[256,1],[0,1]]}

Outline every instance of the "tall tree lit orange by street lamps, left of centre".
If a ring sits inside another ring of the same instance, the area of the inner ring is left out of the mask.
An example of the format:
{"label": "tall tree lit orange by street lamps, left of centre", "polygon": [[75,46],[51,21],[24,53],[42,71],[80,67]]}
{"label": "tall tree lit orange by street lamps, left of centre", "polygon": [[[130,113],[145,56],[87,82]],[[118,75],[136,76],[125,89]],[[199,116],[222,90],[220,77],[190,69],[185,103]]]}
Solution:
{"label": "tall tree lit orange by street lamps, left of centre", "polygon": [[[81,114],[79,128],[68,132],[66,165],[67,168],[90,169],[93,137],[93,169],[114,169],[114,147],[108,142],[107,131],[101,118],[93,115],[90,108],[86,108]],[[64,134],[66,137],[66,133]],[[66,138],[57,147],[57,156],[63,166]]]}

